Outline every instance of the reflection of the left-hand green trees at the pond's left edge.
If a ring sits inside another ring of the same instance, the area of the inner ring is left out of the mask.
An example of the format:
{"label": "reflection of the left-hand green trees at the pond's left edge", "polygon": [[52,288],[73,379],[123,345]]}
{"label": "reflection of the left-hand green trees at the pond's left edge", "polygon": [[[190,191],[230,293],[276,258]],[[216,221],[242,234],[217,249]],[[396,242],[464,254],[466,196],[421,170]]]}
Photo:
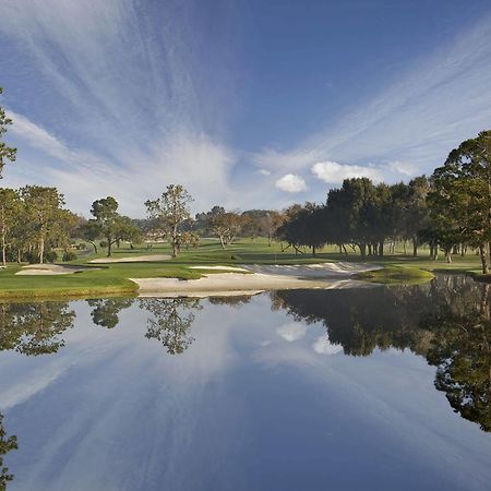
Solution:
{"label": "reflection of the left-hand green trees at the pond's left edge", "polygon": [[73,326],[67,302],[0,303],[0,350],[45,355],[64,346],[60,335]]}

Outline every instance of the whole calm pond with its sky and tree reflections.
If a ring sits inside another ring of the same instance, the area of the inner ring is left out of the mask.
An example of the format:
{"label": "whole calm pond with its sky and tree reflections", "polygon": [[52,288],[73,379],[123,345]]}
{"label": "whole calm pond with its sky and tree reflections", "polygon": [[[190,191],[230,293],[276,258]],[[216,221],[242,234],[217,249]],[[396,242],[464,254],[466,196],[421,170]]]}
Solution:
{"label": "whole calm pond with its sky and tree reflections", "polygon": [[486,490],[489,286],[0,303],[0,489]]}

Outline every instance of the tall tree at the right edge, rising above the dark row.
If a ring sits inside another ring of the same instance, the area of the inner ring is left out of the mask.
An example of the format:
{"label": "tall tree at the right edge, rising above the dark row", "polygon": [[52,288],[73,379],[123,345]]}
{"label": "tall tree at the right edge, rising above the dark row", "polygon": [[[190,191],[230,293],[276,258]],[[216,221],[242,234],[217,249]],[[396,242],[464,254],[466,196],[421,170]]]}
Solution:
{"label": "tall tree at the right edge, rising above the dark row", "polygon": [[[489,273],[491,240],[491,131],[463,142],[433,172],[429,194],[433,219],[453,241],[466,241],[479,250],[482,273]],[[446,243],[450,256],[452,243]]]}

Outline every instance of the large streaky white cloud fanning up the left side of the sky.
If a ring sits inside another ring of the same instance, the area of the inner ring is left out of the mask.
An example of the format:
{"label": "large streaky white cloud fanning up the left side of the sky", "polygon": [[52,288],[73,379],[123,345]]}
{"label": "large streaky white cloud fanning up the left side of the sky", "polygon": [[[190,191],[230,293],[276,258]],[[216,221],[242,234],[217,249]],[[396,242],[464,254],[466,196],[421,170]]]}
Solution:
{"label": "large streaky white cloud fanning up the left side of the sky", "polygon": [[[236,156],[223,131],[227,88],[209,91],[200,76],[204,33],[190,21],[190,5],[164,7],[169,15],[157,25],[133,0],[2,5],[0,34],[28,56],[43,108],[50,108],[34,120],[12,111],[20,149],[4,184],[59,185],[81,212],[110,193],[140,215],[145,196],[177,181],[200,206],[228,200]],[[226,71],[220,81],[232,86]]]}

